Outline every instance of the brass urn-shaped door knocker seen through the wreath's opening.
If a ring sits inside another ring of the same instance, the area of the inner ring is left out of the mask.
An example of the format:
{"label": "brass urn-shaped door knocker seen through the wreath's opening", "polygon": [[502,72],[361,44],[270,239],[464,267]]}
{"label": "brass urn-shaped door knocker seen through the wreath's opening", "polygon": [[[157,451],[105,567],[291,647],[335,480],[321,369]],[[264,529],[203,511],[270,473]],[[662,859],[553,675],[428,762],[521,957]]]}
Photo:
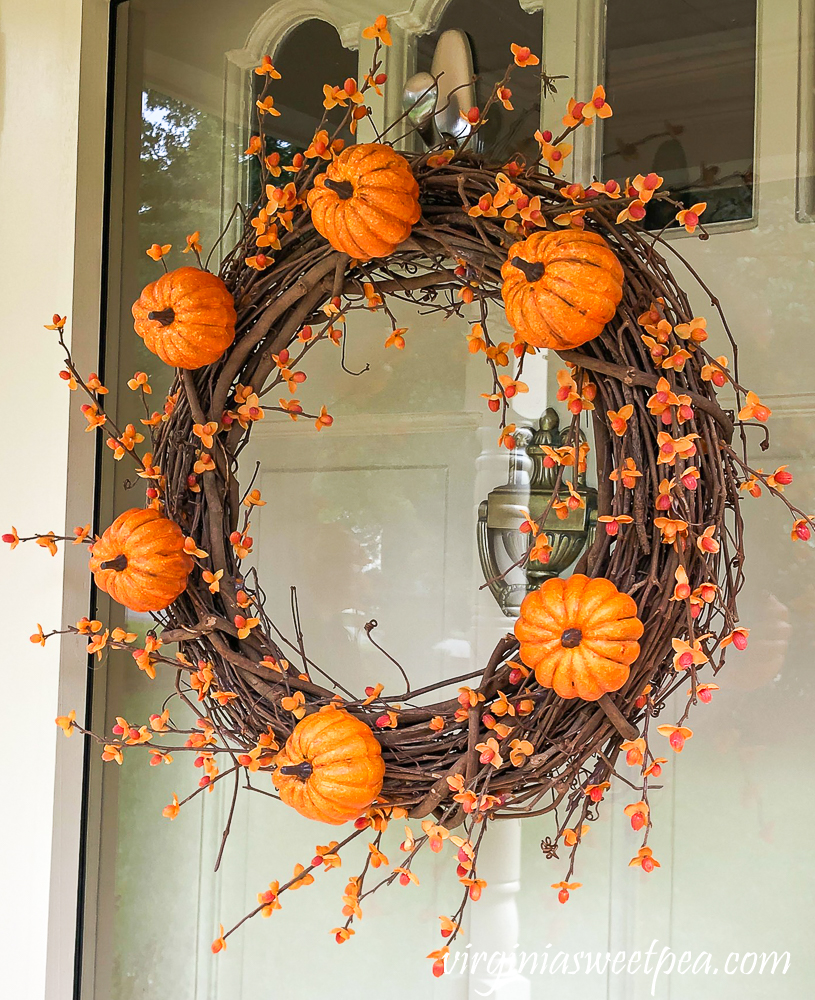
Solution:
{"label": "brass urn-shaped door knocker seen through the wreath's opening", "polygon": [[[492,490],[478,508],[481,571],[490,593],[508,618],[517,617],[526,594],[536,590],[544,580],[559,576],[594,538],[597,491],[586,484],[585,473],[578,473],[573,487],[584,506],[570,509],[563,520],[550,511],[542,527],[552,546],[549,561],[529,561],[522,568],[507,572],[532,544],[531,534],[520,531],[527,513],[533,521],[538,520],[552,500],[558,468],[544,464],[543,448],[564,447],[570,443],[566,440],[568,434],[568,429],[561,430],[560,420],[552,407],[538,421],[537,430],[519,427],[514,434],[515,447],[509,456],[508,481]],[[515,581],[510,582],[508,577],[513,575]]]}

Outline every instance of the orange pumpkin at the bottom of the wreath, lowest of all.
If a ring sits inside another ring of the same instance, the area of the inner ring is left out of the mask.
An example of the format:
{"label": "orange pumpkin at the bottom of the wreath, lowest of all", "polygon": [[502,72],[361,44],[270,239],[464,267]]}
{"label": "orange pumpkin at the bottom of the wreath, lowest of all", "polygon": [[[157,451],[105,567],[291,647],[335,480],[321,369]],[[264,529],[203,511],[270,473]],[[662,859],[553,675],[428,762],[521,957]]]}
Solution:
{"label": "orange pumpkin at the bottom of the wreath, lowest of all", "polygon": [[286,805],[308,819],[335,825],[367,809],[385,775],[370,727],[334,705],[301,719],[275,764],[272,781]]}

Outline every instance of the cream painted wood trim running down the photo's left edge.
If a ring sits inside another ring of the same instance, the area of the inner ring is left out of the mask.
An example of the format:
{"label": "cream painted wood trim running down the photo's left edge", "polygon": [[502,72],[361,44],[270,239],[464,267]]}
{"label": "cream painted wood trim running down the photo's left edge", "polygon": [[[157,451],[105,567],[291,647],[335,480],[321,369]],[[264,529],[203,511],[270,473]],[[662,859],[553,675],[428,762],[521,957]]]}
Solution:
{"label": "cream painted wood trim running down the photo's left edge", "polygon": [[[66,521],[86,523],[93,495],[93,442],[64,383],[51,380],[61,356],[41,326],[57,310],[69,315],[78,362],[83,369],[95,365],[106,7],[100,0],[32,0],[3,4],[0,15],[7,247],[0,386],[6,412],[27,414],[10,418],[13,430],[9,426],[3,438],[2,461],[14,483],[0,500],[4,531],[16,524],[21,534],[62,533]],[[32,129],[42,139],[37,152]],[[50,259],[37,266],[42,232],[32,221],[44,198]],[[35,381],[41,383],[36,415]],[[52,639],[41,649],[28,636],[37,620],[48,631],[59,627],[62,615],[75,620],[85,613],[89,588],[77,549],[53,560],[36,547],[4,549],[0,677],[7,695],[0,719],[9,757],[0,827],[2,992],[39,1000],[47,991],[63,1000],[73,971],[82,747],[76,739],[58,741],[53,719],[71,707],[81,711],[85,657],[73,642]]]}

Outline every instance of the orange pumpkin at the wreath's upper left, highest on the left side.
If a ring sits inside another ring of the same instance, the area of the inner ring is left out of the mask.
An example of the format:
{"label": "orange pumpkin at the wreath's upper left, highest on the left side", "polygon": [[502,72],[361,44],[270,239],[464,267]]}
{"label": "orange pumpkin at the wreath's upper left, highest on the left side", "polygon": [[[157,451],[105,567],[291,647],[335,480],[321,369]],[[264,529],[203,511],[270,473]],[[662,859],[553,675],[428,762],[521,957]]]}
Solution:
{"label": "orange pumpkin at the wreath's upper left, highest on the left side", "polygon": [[175,368],[217,361],[235,339],[235,302],[217,274],[179,267],[149,284],[133,304],[136,333]]}

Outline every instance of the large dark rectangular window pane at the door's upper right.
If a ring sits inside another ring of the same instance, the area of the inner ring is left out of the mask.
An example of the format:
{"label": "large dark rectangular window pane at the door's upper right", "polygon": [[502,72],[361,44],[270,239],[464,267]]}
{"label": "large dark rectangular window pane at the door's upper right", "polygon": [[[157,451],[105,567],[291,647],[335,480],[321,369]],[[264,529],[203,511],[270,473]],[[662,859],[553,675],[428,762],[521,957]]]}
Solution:
{"label": "large dark rectangular window pane at the door's upper right", "polygon": [[[614,0],[606,13],[604,178],[655,171],[705,223],[753,214],[756,2]],[[660,229],[671,205],[653,202]]]}

